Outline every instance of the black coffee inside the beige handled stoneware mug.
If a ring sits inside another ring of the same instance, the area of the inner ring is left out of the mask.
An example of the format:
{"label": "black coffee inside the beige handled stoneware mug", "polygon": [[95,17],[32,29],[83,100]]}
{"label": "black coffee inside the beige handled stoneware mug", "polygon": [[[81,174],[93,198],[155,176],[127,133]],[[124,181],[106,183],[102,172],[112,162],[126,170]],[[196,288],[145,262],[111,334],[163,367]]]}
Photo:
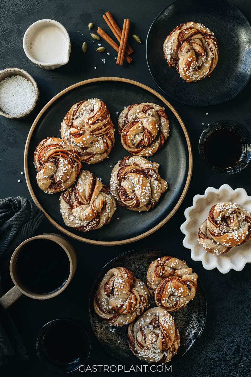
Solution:
{"label": "black coffee inside the beige handled stoneware mug", "polygon": [[21,249],[16,260],[17,277],[33,293],[52,293],[61,288],[70,274],[70,262],[56,242],[37,239]]}

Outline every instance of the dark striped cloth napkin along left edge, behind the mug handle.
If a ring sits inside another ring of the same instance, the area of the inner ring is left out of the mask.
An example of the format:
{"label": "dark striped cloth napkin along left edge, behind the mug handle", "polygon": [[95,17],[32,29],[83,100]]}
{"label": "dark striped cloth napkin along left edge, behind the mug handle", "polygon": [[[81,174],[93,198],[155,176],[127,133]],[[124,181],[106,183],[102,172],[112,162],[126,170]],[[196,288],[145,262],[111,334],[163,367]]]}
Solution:
{"label": "dark striped cloth napkin along left edge, behind the mug handle", "polygon": [[[33,236],[44,214],[28,199],[0,199],[0,274],[12,252]],[[1,277],[1,276],[0,276]],[[1,281],[1,280],[0,280]],[[0,287],[0,292],[2,287]],[[26,349],[8,313],[0,305],[0,365],[28,359]]]}

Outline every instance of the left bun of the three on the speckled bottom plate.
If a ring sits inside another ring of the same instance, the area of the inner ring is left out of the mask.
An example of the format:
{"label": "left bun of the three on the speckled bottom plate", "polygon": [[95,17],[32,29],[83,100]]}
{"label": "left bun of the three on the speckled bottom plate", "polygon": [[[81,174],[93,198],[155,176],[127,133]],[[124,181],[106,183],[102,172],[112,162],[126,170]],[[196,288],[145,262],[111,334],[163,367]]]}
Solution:
{"label": "left bun of the three on the speckled bottom plate", "polygon": [[99,285],[94,298],[94,310],[110,325],[128,325],[148,308],[146,285],[127,268],[111,268]]}

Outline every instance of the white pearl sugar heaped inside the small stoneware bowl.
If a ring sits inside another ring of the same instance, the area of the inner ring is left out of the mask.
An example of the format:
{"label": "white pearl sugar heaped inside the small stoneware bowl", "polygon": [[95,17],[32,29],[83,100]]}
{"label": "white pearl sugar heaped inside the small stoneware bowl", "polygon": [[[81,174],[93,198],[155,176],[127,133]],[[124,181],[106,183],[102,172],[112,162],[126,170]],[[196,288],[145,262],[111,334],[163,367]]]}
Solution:
{"label": "white pearl sugar heaped inside the small stoneware bowl", "polygon": [[9,115],[25,113],[35,100],[32,83],[20,75],[6,77],[0,82],[0,109]]}

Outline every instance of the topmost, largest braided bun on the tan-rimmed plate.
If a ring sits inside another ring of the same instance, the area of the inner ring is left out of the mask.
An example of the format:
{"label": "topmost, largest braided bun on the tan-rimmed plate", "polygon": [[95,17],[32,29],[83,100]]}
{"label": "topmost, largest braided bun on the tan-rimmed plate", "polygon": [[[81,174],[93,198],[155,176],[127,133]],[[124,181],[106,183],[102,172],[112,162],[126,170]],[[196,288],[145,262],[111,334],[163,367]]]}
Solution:
{"label": "topmost, largest braided bun on the tan-rimmed plate", "polygon": [[71,106],[61,123],[61,137],[77,149],[88,164],[103,161],[114,146],[114,128],[106,104],[97,99]]}

